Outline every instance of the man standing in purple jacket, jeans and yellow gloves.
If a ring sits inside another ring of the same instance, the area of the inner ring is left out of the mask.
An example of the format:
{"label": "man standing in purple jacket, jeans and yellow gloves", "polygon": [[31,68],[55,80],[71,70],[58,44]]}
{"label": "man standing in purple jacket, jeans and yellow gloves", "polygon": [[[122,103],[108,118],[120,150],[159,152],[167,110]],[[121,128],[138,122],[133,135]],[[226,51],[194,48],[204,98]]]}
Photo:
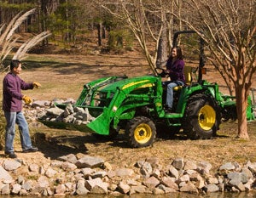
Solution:
{"label": "man standing in purple jacket, jeans and yellow gloves", "polygon": [[5,132],[5,155],[10,158],[16,158],[14,150],[15,123],[19,127],[20,142],[22,152],[38,151],[37,147],[32,146],[29,129],[26,118],[23,115],[22,100],[30,104],[32,99],[21,93],[22,90],[41,87],[40,83],[26,83],[20,79],[21,63],[19,60],[12,60],[10,63],[10,72],[3,78],[3,111],[6,119]]}

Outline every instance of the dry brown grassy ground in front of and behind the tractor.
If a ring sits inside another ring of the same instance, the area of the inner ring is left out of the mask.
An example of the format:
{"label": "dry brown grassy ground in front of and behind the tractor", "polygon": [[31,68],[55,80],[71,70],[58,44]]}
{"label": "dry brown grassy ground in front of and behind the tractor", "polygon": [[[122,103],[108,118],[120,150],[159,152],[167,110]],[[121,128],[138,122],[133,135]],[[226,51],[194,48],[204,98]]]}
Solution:
{"label": "dry brown grassy ground in front of and behind the tractor", "polygon": [[[149,74],[147,62],[136,50],[129,54],[30,54],[20,75],[26,82],[40,82],[42,88],[27,90],[23,93],[32,99],[52,100],[55,98],[77,99],[84,83],[102,76],[141,76]],[[0,74],[3,81],[4,74]],[[211,82],[218,82],[220,89],[227,93],[218,73],[210,68],[205,76]],[[253,88],[256,88],[256,77]],[[1,87],[2,89],[2,83]],[[166,167],[173,158],[183,157],[195,161],[209,161],[213,169],[224,162],[256,161],[256,122],[248,122],[250,139],[236,139],[237,123],[221,124],[218,137],[209,140],[190,140],[183,134],[172,137],[157,131],[158,136],[151,147],[131,149],[125,143],[121,133],[113,141],[96,139],[90,133],[50,129],[43,125],[30,126],[32,140],[39,150],[36,155],[23,154],[20,148],[19,134],[15,139],[15,152],[23,161],[47,163],[59,156],[84,153],[100,156],[113,167],[133,167],[138,160],[157,157],[160,164]],[[0,152],[3,156],[3,151]]]}

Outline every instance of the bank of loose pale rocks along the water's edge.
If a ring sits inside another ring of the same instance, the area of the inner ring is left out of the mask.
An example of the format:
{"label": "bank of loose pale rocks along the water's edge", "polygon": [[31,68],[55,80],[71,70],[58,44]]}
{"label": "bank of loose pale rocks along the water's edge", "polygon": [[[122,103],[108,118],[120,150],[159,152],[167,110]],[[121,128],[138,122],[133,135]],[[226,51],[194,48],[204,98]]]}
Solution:
{"label": "bank of loose pale rocks along the water's edge", "polygon": [[[22,168],[24,175],[17,175]],[[134,167],[113,166],[101,157],[83,154],[61,156],[48,164],[0,160],[1,195],[169,194],[197,195],[218,191],[256,189],[256,163],[228,162],[210,173],[207,161],[176,158],[161,167],[156,157],[137,161]],[[26,170],[26,171],[25,171]]]}

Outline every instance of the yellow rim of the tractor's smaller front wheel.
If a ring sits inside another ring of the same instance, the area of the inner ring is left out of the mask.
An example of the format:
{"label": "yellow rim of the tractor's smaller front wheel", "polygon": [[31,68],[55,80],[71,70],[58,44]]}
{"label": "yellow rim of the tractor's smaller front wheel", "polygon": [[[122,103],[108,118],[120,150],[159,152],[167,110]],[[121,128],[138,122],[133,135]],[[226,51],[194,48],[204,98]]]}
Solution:
{"label": "yellow rim of the tractor's smaller front wheel", "polygon": [[138,125],[134,131],[134,139],[139,144],[145,144],[151,139],[152,130],[148,124],[142,123]]}

